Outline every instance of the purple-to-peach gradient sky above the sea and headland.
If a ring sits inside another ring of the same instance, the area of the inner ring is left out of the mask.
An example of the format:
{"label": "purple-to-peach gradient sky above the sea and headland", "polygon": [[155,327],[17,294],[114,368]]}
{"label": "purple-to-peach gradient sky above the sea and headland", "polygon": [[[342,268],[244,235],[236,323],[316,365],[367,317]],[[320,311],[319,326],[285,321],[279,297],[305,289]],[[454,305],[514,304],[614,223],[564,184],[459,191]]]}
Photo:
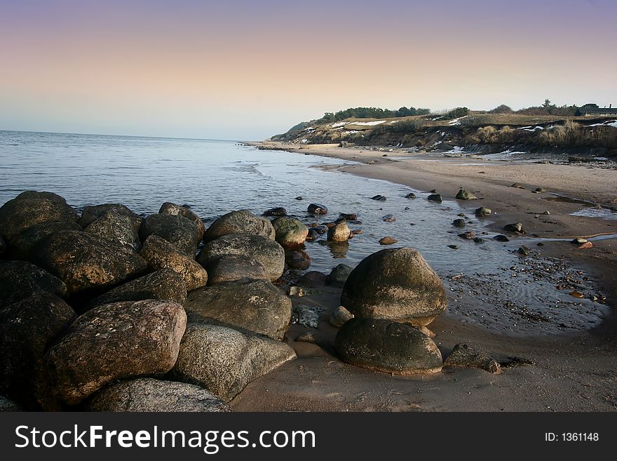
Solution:
{"label": "purple-to-peach gradient sky above the sea and headland", "polygon": [[0,0],[0,130],[262,140],[358,106],[617,105],[615,0]]}

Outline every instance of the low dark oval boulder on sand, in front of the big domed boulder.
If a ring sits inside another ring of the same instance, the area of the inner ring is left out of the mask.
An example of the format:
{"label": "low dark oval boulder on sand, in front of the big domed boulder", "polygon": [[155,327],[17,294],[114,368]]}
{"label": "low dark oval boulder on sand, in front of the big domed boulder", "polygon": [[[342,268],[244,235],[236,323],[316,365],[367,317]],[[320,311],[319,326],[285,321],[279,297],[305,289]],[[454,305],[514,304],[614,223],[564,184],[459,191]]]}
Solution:
{"label": "low dark oval boulder on sand, in front of the big domed boulder", "polygon": [[404,323],[351,319],[341,326],[335,345],[342,361],[384,373],[436,373],[443,366],[435,342]]}

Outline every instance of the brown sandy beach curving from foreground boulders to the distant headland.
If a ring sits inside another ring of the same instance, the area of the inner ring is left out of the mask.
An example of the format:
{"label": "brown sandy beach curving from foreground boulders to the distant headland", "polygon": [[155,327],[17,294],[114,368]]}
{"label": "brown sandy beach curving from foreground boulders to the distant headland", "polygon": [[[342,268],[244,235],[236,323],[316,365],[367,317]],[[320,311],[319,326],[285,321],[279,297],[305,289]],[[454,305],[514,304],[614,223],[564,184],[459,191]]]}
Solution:
{"label": "brown sandy beach curving from foreground boulders to the distant headland", "polygon": [[[438,189],[445,199],[454,199],[460,187],[468,189],[480,200],[459,203],[468,206],[471,212],[479,206],[491,208],[497,213],[495,231],[509,222],[522,222],[528,236],[535,234],[538,238],[569,239],[617,233],[617,221],[571,216],[570,213],[585,208],[579,203],[545,200],[546,196],[560,194],[602,206],[617,206],[615,170],[444,159],[434,155],[392,160],[382,155],[399,156],[400,153],[334,145],[294,150],[359,162],[342,170],[398,182],[420,191]],[[524,189],[510,187],[513,182],[522,183]],[[548,192],[534,194],[531,191],[536,187]],[[544,211],[550,215],[540,214]],[[543,257],[569,260],[584,267],[599,283],[609,305],[609,314],[599,326],[583,332],[521,338],[474,326],[446,312],[429,326],[436,333],[434,340],[444,357],[454,345],[463,342],[501,363],[522,359],[515,361],[519,366],[504,367],[500,375],[478,369],[444,368],[434,375],[400,377],[348,366],[337,359],[333,347],[337,329],[327,323],[327,318],[339,305],[340,290],[325,287],[318,295],[292,298],[294,303],[314,302],[327,307],[318,330],[299,325],[290,327],[286,340],[296,350],[298,359],[252,382],[232,401],[233,408],[245,411],[617,410],[617,361],[614,359],[617,241],[595,241],[593,248],[585,250],[576,250],[569,241],[543,243]],[[459,297],[456,309],[464,309],[465,304],[474,308],[477,300],[473,295]],[[318,344],[294,341],[307,330],[317,333]]]}

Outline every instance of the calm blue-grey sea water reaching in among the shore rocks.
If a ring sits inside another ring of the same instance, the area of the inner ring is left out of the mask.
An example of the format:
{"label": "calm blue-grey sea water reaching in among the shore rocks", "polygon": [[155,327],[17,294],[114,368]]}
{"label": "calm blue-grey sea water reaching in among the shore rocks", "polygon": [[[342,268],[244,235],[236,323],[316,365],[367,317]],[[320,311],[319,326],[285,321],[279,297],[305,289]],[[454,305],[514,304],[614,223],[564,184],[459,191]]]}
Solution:
{"label": "calm blue-grey sea water reaching in among the shore rocks", "polygon": [[[311,269],[329,272],[340,262],[355,265],[384,248],[378,242],[383,236],[398,239],[394,246],[419,250],[443,278],[465,273],[479,280],[503,279],[504,271],[520,263],[513,250],[524,242],[503,245],[491,235],[484,236],[482,244],[460,239],[461,230],[451,225],[463,212],[456,201],[438,205],[426,201],[426,192],[319,168],[332,164],[344,162],[231,141],[0,131],[0,205],[24,190],[38,190],[60,194],[78,210],[118,202],[147,215],[158,212],[164,201],[187,204],[206,225],[242,208],[261,214],[283,206],[306,224],[334,220],[341,212],[357,213],[362,224],[350,227],[364,233],[348,246],[306,243]],[[405,199],[408,192],[418,198]],[[376,194],[387,201],[371,200]],[[330,213],[319,220],[310,217],[306,207],[311,202],[325,204]],[[395,215],[396,221],[382,221],[386,214]],[[478,235],[484,231],[485,221],[473,215],[468,220],[472,222],[464,230]],[[547,308],[571,302],[552,283],[534,277],[508,280],[504,290],[513,302],[534,309],[542,308],[537,300]],[[574,321],[581,326],[597,323],[599,308],[581,303]]]}

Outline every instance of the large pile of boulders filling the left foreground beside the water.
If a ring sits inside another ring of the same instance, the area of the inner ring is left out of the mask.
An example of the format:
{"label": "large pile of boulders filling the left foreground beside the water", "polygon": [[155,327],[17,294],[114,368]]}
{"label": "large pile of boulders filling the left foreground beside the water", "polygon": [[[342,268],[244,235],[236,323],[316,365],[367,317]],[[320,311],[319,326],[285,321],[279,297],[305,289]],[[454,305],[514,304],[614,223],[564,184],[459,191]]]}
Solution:
{"label": "large pile of boulders filling the left foreground beside the water", "polygon": [[56,194],[23,192],[0,208],[3,407],[231,410],[295,358],[282,342],[291,301],[271,282],[285,269],[277,236],[297,245],[306,230],[248,211],[205,229],[175,203],[79,215]]}

